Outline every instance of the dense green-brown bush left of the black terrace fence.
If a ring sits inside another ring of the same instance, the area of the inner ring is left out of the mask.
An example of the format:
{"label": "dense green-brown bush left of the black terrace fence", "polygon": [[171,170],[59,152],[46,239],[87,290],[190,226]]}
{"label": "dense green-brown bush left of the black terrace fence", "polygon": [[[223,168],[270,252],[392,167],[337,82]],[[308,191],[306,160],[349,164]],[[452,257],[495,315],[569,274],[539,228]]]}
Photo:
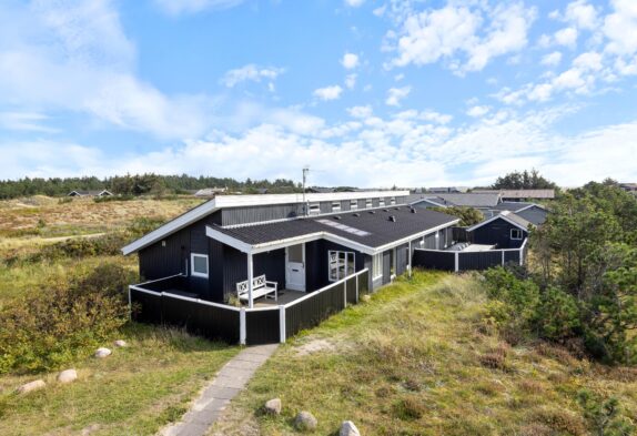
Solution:
{"label": "dense green-brown bush left of the black terrace fence", "polygon": [[105,264],[71,283],[46,288],[0,312],[0,374],[57,369],[88,356],[128,321],[131,274]]}

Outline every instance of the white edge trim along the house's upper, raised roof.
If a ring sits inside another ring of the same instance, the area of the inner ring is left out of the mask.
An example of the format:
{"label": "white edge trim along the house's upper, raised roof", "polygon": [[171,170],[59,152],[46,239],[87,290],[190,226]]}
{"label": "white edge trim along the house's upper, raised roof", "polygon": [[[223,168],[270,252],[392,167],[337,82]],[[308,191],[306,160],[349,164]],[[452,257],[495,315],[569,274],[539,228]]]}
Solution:
{"label": "white edge trim along the house's upper, raised roof", "polygon": [[[306,202],[321,202],[330,200],[361,200],[375,199],[378,196],[406,196],[410,191],[362,191],[362,192],[330,192],[321,194],[305,194]],[[124,256],[134,253],[150,244],[155,243],[163,236],[168,236],[192,222],[222,207],[259,206],[269,204],[303,203],[303,194],[259,194],[259,195],[219,195],[214,199],[191,209],[176,219],[131,242],[122,249]]]}

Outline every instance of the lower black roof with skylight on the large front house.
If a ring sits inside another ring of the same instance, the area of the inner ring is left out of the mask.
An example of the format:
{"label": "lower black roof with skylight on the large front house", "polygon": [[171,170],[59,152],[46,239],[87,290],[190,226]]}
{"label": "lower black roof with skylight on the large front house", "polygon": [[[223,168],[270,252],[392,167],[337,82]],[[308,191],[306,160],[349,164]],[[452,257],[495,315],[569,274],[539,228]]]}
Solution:
{"label": "lower black roof with skylight on the large front house", "polygon": [[[423,209],[416,209],[414,213],[410,206],[402,205],[235,227],[213,225],[212,229],[251,245],[328,232],[370,247],[378,247],[456,220],[455,216]],[[348,229],[338,229],[325,222]]]}

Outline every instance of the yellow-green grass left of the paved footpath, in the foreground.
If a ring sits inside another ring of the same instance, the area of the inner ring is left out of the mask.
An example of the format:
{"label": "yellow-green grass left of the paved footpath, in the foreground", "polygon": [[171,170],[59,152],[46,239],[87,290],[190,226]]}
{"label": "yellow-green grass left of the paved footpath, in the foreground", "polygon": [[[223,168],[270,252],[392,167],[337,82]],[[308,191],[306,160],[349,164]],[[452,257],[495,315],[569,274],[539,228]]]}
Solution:
{"label": "yellow-green grass left of the paved footpath, in the foreground", "polygon": [[[72,384],[57,383],[55,374],[0,377],[0,434],[152,435],[179,420],[205,381],[239,352],[142,325],[128,328],[122,337],[128,347],[79,363],[79,379]],[[44,389],[13,393],[37,378],[47,382]]]}

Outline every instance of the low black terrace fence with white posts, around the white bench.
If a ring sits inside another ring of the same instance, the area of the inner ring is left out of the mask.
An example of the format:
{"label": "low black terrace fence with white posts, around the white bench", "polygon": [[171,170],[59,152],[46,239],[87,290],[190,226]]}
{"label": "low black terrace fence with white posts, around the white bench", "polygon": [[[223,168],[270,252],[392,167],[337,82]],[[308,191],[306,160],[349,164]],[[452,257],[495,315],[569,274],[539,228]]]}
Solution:
{"label": "low black terrace fence with white posts, around the white bench", "polygon": [[368,293],[368,268],[351,274],[287,304],[272,307],[234,307],[165,292],[179,288],[174,275],[129,286],[134,321],[185,328],[189,333],[229,344],[284,343],[314,327]]}

